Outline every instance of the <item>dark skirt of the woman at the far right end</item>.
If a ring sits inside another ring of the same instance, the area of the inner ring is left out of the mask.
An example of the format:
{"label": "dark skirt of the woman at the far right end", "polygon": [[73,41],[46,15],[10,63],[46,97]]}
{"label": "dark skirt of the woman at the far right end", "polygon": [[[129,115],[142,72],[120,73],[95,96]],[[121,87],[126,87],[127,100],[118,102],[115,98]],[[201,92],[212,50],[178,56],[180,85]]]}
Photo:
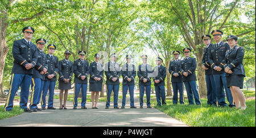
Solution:
{"label": "dark skirt of the woman at the far right end", "polygon": [[243,75],[226,76],[226,83],[228,87],[237,86],[240,87],[240,89],[243,89],[243,78]]}

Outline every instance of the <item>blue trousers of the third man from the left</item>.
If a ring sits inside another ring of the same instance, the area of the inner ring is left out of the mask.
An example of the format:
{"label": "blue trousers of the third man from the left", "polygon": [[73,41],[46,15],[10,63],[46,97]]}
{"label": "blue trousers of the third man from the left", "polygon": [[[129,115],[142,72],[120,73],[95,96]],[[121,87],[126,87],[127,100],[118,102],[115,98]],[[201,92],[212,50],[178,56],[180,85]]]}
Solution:
{"label": "blue trousers of the third man from the left", "polygon": [[44,81],[43,94],[41,97],[41,107],[46,107],[46,95],[49,90],[48,97],[48,108],[53,107],[53,96],[55,89],[56,81]]}

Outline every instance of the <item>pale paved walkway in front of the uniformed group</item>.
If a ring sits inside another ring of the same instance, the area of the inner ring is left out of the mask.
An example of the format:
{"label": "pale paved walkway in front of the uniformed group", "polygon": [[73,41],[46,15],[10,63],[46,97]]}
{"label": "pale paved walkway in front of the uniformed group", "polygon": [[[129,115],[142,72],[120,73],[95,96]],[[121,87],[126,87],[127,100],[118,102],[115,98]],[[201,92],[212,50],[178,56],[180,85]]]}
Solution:
{"label": "pale paved walkway in front of the uniformed group", "polygon": [[[171,118],[155,108],[139,107],[139,99],[135,95],[136,109],[130,108],[126,98],[125,109],[114,109],[113,101],[110,108],[105,109],[105,102],[98,103],[98,109],[92,109],[92,102],[87,102],[87,109],[81,109],[81,103],[73,110],[73,103],[67,102],[68,110],[59,110],[59,99],[55,99],[56,110],[24,112],[12,118],[0,120],[0,126],[87,126],[87,127],[184,127],[186,124]],[[118,105],[121,107],[121,99]],[[29,104],[29,103],[28,103]],[[144,103],[145,104],[145,103]],[[40,108],[40,107],[39,107]]]}

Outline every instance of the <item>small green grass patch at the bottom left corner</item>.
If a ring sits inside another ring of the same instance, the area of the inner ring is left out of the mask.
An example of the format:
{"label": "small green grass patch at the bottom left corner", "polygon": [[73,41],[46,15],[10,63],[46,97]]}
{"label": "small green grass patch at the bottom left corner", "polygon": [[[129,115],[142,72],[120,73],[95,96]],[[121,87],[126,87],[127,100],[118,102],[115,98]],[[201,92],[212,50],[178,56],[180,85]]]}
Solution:
{"label": "small green grass patch at the bottom left corner", "polygon": [[12,116],[20,115],[24,112],[22,109],[19,108],[19,106],[14,106],[13,110],[7,112],[3,107],[4,106],[0,106],[0,119],[10,118]]}

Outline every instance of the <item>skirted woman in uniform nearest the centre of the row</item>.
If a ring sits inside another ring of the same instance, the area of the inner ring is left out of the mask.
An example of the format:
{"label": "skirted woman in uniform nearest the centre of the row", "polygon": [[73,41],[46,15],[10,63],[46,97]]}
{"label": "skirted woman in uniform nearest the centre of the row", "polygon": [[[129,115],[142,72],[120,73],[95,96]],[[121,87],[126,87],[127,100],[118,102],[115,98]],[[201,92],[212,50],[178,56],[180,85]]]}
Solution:
{"label": "skirted woman in uniform nearest the centre of the row", "polygon": [[[91,92],[91,98],[92,98],[92,108],[98,108],[98,95],[100,91],[102,90],[102,82],[103,82],[103,64],[99,62],[100,55],[95,54],[94,55],[94,62],[90,63],[90,80],[89,80],[89,89]],[[94,96],[95,94],[95,96]],[[94,104],[95,99],[95,104]]]}

